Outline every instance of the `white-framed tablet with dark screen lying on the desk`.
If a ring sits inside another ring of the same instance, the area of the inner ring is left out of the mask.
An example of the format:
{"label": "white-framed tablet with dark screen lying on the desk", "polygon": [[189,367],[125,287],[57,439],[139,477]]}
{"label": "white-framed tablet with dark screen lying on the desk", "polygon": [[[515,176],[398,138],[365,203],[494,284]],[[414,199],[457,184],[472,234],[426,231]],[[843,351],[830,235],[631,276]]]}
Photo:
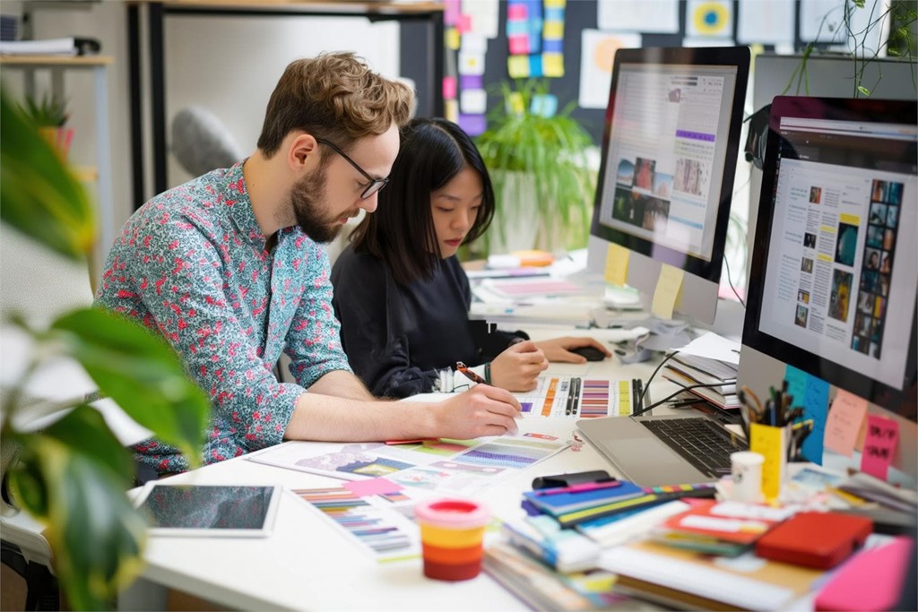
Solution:
{"label": "white-framed tablet with dark screen lying on the desk", "polygon": [[137,506],[151,535],[265,537],[274,527],[281,486],[163,484],[140,491]]}

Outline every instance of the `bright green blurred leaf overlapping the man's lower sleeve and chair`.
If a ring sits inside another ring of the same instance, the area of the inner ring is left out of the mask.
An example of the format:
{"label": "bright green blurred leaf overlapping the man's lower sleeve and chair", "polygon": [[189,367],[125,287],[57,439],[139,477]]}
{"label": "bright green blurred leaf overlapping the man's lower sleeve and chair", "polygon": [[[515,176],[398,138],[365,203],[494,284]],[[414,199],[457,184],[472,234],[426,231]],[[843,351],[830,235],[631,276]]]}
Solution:
{"label": "bright green blurred leaf overlapping the man's lower sleeve and chair", "polygon": [[201,464],[210,405],[175,351],[134,321],[99,308],[64,315],[51,329],[99,389],[156,437]]}

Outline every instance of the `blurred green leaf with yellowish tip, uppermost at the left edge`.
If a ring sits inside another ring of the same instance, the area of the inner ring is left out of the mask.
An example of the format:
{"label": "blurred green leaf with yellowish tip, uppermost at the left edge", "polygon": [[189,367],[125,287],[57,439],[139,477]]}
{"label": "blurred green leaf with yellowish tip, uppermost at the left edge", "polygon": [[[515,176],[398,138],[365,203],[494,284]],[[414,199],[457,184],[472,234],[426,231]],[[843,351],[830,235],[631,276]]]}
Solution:
{"label": "blurred green leaf with yellowish tip, uppermost at the left edge", "polygon": [[95,245],[95,208],[38,129],[0,90],[0,218],[71,259]]}

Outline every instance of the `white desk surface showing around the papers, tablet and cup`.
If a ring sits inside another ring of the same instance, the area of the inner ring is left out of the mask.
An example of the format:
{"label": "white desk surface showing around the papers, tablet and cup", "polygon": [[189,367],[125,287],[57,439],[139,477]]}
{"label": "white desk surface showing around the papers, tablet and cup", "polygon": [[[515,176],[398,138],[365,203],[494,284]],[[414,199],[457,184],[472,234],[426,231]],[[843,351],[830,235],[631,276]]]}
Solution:
{"label": "white desk surface showing around the papers, tablet and cup", "polygon": [[[523,326],[533,339],[589,335],[589,330]],[[646,379],[648,363],[622,366],[616,358],[583,365],[554,363],[549,372]],[[659,397],[675,385],[654,382]],[[521,430],[538,430],[570,439],[576,419],[526,417]],[[522,513],[521,493],[540,474],[604,469],[609,462],[585,444],[489,487],[485,499],[498,516]],[[255,463],[240,457],[174,476],[170,483],[283,484],[310,488],[341,481]],[[474,580],[444,583],[427,579],[421,560],[378,563],[341,529],[285,493],[274,534],[267,539],[153,538],[144,554],[142,578],[118,599],[119,609],[164,609],[165,588],[174,587],[240,609],[509,610],[528,609],[509,591],[482,573]]]}

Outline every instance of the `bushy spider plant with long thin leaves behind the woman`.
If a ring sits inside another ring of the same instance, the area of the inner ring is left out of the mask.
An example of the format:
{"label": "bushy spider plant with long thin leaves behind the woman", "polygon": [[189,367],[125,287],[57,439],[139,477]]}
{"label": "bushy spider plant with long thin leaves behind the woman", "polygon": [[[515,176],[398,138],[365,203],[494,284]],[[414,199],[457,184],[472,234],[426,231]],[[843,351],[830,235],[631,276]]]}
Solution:
{"label": "bushy spider plant with long thin leaves behind the woman", "polygon": [[476,138],[498,202],[487,251],[585,247],[596,172],[588,168],[592,139],[570,117],[575,104],[550,112],[546,80],[501,83],[500,95]]}

